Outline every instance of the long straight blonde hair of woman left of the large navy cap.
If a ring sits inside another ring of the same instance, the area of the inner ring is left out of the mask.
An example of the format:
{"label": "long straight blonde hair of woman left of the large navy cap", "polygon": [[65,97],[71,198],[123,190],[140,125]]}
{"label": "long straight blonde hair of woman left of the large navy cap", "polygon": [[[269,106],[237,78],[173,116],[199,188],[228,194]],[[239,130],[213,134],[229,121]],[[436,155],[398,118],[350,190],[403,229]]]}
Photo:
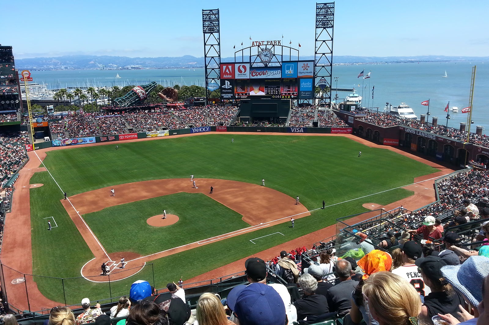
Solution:
{"label": "long straight blonde hair of woman left of the large navy cap", "polygon": [[221,301],[213,293],[203,293],[197,301],[197,321],[199,325],[234,325],[224,312]]}

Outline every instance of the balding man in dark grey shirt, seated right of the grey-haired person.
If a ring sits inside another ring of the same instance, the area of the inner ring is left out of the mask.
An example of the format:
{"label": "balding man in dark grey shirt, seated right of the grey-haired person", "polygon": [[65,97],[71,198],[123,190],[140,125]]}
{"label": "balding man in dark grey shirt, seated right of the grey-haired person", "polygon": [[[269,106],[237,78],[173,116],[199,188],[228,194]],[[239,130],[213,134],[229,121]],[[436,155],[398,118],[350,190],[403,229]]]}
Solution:
{"label": "balding man in dark grey shirt, seated right of the grey-haired person", "polygon": [[352,280],[352,264],[345,260],[336,262],[336,275],[339,283],[328,290],[329,311],[343,318],[352,307],[350,297],[358,282]]}

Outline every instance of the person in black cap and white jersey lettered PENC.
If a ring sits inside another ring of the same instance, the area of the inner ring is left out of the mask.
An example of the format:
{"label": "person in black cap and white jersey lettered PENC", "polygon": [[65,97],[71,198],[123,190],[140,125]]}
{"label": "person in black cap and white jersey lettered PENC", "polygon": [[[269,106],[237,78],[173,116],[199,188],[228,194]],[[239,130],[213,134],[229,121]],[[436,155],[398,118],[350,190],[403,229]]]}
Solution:
{"label": "person in black cap and white jersey lettered PENC", "polygon": [[[433,218],[434,219],[434,218]],[[399,275],[402,279],[412,284],[423,297],[431,290],[424,285],[421,272],[418,271],[418,266],[414,263],[422,255],[422,247],[420,244],[409,241],[404,244],[402,251],[402,265],[392,270],[392,273]]]}

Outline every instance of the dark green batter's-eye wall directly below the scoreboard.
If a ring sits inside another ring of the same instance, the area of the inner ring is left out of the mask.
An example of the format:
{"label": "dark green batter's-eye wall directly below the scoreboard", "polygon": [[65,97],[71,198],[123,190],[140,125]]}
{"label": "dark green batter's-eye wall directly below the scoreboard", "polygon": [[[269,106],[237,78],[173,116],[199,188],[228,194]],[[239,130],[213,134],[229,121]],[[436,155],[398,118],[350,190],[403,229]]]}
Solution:
{"label": "dark green batter's-eye wall directly below the scoreboard", "polygon": [[240,121],[283,124],[290,112],[290,100],[259,99],[240,101]]}

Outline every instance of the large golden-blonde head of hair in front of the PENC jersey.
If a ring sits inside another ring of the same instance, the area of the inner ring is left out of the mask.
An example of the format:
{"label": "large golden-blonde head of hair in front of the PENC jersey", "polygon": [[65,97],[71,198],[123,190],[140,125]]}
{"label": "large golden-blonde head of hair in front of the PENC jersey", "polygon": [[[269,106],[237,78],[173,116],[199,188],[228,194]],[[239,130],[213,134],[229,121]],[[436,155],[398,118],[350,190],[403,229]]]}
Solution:
{"label": "large golden-blonde head of hair in front of the PENC jersey", "polygon": [[418,325],[421,299],[418,291],[397,274],[372,274],[362,287],[364,302],[379,325]]}

